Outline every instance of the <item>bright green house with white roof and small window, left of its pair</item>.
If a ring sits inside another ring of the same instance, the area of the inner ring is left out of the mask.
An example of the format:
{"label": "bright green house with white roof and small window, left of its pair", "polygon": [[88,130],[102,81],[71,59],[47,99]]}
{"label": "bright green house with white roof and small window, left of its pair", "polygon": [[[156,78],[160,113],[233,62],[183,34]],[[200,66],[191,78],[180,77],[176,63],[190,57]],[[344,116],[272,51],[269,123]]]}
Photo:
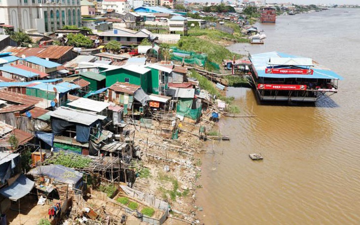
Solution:
{"label": "bright green house with white roof and small window, left of its pair", "polygon": [[127,65],[121,68],[108,69],[101,73],[106,76],[107,87],[116,82],[125,82],[139,85],[145,92],[149,91],[151,70],[143,65]]}

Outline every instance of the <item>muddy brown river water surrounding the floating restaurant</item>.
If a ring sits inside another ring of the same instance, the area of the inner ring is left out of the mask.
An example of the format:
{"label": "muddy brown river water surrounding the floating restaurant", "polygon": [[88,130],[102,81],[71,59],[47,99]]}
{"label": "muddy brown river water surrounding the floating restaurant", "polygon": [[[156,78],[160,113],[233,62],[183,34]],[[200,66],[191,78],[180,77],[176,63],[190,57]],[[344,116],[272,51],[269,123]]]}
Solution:
{"label": "muddy brown river water surrounding the floating restaurant", "polygon": [[[243,115],[219,121],[230,142],[208,142],[196,205],[206,225],[360,224],[360,9],[279,16],[264,45],[310,57],[342,75],[339,92],[315,106],[259,105],[250,88],[228,88]],[[249,153],[264,156],[252,161]]]}

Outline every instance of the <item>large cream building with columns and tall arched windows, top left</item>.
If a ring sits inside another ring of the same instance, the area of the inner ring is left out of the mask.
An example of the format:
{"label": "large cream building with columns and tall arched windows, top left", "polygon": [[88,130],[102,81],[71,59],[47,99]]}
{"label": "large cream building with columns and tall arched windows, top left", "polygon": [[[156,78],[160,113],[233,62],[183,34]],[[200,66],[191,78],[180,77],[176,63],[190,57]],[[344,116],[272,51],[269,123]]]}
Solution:
{"label": "large cream building with columns and tall arched windows, top left", "polygon": [[80,0],[0,0],[0,21],[15,31],[49,32],[81,26]]}

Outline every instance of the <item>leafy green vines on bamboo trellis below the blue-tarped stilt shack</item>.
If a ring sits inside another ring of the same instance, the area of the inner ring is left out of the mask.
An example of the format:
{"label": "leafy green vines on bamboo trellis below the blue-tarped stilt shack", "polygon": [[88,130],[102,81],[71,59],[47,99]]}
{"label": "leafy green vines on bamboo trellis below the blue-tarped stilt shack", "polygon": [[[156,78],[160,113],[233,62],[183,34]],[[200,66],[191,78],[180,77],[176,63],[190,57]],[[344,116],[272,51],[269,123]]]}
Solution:
{"label": "leafy green vines on bamboo trellis below the blue-tarped stilt shack", "polygon": [[66,154],[64,151],[54,153],[54,157],[45,160],[47,164],[63,165],[69,168],[85,168],[91,162],[90,158],[78,154]]}

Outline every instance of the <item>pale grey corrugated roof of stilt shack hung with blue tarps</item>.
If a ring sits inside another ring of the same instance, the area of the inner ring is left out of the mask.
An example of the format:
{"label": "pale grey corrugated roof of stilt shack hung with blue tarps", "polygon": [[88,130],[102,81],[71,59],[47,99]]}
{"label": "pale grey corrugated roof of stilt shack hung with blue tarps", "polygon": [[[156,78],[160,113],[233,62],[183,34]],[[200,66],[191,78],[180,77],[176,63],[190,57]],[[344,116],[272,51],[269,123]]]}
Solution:
{"label": "pale grey corrugated roof of stilt shack hung with blue tarps", "polygon": [[57,110],[50,111],[46,114],[69,122],[80,123],[88,126],[97,120],[103,120],[106,118],[106,116],[103,115],[89,114],[83,111],[71,110],[66,107],[60,107]]}

